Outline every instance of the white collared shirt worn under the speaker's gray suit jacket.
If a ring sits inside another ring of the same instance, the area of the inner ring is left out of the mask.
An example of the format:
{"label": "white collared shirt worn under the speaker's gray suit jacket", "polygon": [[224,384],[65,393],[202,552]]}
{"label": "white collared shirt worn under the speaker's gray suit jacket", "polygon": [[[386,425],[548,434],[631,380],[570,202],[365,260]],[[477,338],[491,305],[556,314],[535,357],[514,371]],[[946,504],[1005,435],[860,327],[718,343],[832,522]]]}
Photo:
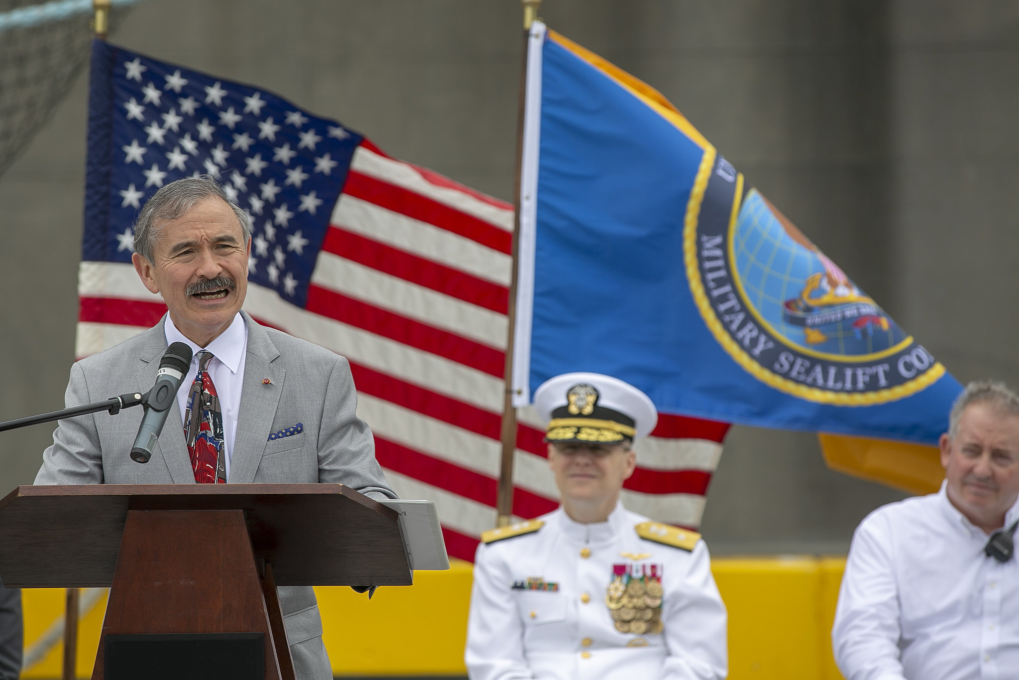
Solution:
{"label": "white collared shirt worn under the speaker's gray suit jacket", "polygon": [[226,479],[230,478],[230,453],[233,451],[233,440],[237,434],[237,414],[240,412],[240,388],[245,382],[245,357],[248,355],[248,324],[245,317],[237,312],[233,322],[220,333],[208,347],[200,348],[177,330],[170,315],[166,315],[166,345],[184,343],[195,355],[192,357],[191,368],[177,390],[177,406],[180,407],[180,422],[184,421],[187,410],[187,393],[198,375],[198,353],[202,350],[212,352],[214,359],[209,362],[209,377],[216,385],[219,397],[219,408],[223,411],[223,450],[225,453]]}

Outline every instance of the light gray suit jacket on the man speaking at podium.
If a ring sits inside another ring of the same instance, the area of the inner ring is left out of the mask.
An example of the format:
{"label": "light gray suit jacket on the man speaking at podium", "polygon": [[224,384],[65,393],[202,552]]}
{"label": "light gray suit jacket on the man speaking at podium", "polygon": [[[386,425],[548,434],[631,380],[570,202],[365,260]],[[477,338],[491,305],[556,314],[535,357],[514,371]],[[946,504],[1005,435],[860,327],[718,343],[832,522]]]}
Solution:
{"label": "light gray suit jacket on the man speaking at podium", "polygon": [[[245,320],[248,356],[229,482],[336,482],[377,499],[396,498],[375,461],[371,430],[356,414],[357,393],[346,359],[261,326],[247,314]],[[165,351],[160,322],[76,362],[64,397],[66,405],[148,389],[156,381]],[[53,446],[43,453],[36,483],[194,484],[176,404],[152,460],[145,465],[130,460],[142,413],[135,408],[116,416],[100,412],[61,420]],[[269,441],[270,433],[297,423],[304,425],[301,434]],[[332,678],[312,588],[281,587],[279,600],[298,678]]]}

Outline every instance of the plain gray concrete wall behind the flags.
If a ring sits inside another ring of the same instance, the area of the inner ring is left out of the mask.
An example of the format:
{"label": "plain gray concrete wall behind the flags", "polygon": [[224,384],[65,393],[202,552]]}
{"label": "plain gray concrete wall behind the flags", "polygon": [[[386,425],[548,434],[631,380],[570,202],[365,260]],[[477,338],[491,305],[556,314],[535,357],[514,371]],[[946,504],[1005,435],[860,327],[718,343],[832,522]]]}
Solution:
{"label": "plain gray concrete wall behind the flags", "polygon": [[[154,0],[111,40],[256,83],[388,153],[509,199],[517,0]],[[545,0],[554,29],[658,88],[962,380],[1019,383],[1010,313],[1019,1]],[[84,79],[0,178],[0,418],[57,408],[72,360]],[[26,483],[49,426],[0,435]],[[843,551],[901,498],[810,434],[736,427],[715,552]]]}

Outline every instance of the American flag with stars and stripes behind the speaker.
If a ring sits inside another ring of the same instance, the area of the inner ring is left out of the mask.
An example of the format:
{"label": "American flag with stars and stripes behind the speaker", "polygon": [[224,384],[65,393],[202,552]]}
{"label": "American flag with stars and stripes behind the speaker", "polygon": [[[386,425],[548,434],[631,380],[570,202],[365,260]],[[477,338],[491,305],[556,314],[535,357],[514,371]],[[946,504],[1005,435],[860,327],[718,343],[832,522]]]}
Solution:
{"label": "American flag with stars and stripes behind the speaker", "polygon": [[[264,90],[101,42],[89,115],[77,356],[159,321],[131,224],[163,185],[216,176],[254,223],[246,311],[350,360],[389,482],[435,502],[449,555],[472,560],[496,519],[513,206]],[[624,504],[696,528],[728,427],[660,416]],[[522,409],[519,518],[557,506],[542,434]]]}

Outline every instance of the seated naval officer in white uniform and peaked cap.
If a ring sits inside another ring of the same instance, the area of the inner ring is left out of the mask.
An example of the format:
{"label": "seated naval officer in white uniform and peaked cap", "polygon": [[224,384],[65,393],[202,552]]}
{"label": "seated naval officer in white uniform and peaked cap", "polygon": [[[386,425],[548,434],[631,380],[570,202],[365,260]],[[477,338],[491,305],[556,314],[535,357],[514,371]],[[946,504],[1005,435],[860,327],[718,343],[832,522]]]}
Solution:
{"label": "seated naval officer in white uniform and peaked cap", "polygon": [[597,373],[543,383],[548,462],[562,506],[482,535],[466,661],[472,680],[725,678],[726,607],[700,534],[620,503],[644,393]]}

